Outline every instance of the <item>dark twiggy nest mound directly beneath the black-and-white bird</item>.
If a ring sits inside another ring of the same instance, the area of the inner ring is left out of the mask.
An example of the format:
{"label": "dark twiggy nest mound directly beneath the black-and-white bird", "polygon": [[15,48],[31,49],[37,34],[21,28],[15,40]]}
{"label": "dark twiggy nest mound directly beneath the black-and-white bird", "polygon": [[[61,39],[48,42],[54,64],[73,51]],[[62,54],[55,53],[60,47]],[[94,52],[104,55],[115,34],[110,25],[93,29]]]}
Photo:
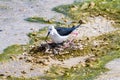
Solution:
{"label": "dark twiggy nest mound directly beneath the black-and-white bird", "polygon": [[29,53],[44,53],[44,54],[66,54],[70,53],[70,50],[81,50],[83,45],[79,42],[64,42],[64,43],[44,43],[40,46],[33,47]]}

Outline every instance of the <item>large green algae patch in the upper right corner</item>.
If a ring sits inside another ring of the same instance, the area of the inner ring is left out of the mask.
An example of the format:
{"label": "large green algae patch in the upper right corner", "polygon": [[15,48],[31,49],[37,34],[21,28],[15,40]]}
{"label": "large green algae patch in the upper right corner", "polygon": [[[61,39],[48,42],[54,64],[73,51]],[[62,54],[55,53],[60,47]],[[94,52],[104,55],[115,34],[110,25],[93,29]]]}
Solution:
{"label": "large green algae patch in the upper right corner", "polygon": [[[103,16],[120,23],[120,1],[119,0],[86,0],[70,5],[61,5],[53,9],[74,20],[85,20],[90,16]],[[117,26],[119,27],[119,26]]]}

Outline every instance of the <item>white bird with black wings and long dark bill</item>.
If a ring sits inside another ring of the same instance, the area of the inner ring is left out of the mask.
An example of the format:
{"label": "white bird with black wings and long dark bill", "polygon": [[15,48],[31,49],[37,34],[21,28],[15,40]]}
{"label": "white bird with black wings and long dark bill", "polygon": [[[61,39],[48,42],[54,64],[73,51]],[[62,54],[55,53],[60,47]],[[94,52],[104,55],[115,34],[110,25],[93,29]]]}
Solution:
{"label": "white bird with black wings and long dark bill", "polygon": [[76,30],[78,27],[80,26],[73,26],[70,28],[66,28],[66,27],[54,27],[54,26],[49,26],[48,27],[48,33],[47,36],[45,38],[45,40],[47,40],[48,36],[50,36],[50,38],[52,39],[52,41],[54,43],[63,43],[64,41],[66,41],[69,37],[69,35]]}

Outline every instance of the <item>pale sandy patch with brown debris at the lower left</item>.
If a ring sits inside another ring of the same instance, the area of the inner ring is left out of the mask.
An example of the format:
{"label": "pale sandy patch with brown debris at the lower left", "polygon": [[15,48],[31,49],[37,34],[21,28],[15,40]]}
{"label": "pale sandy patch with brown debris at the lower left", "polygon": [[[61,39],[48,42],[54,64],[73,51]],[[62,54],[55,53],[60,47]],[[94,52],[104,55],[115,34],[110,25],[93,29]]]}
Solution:
{"label": "pale sandy patch with brown debris at the lower left", "polygon": [[[6,77],[35,77],[43,76],[46,71],[53,65],[70,68],[80,62],[84,62],[87,58],[91,57],[76,57],[68,60],[59,61],[49,56],[31,56],[26,53],[18,56],[12,56],[9,62],[0,63],[0,75]],[[72,63],[71,63],[72,62]]]}

